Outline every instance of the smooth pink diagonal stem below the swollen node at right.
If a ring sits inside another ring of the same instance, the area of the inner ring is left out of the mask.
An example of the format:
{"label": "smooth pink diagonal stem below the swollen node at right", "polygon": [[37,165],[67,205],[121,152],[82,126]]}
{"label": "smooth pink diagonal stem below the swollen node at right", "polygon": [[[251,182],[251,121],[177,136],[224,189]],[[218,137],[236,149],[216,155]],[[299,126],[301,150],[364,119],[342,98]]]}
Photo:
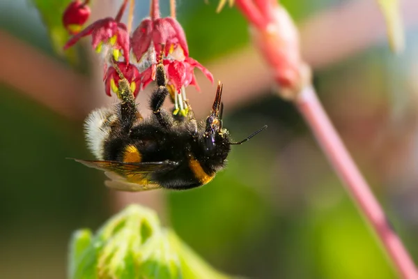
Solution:
{"label": "smooth pink diagonal stem below the swollen node at right", "polygon": [[401,278],[418,278],[417,269],[401,239],[391,228],[385,213],[373,196],[369,186],[357,169],[346,147],[320,104],[314,88],[305,87],[295,101],[331,165],[346,183],[347,190],[357,202],[366,222],[376,231],[383,247],[394,263]]}

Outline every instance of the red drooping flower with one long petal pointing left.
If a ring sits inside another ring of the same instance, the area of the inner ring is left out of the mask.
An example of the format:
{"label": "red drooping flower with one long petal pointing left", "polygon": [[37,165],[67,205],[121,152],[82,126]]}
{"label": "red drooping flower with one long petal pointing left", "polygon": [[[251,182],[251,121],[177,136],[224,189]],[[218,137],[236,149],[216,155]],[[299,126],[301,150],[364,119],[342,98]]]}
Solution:
{"label": "red drooping flower with one long petal pointing left", "polygon": [[91,45],[98,52],[102,50],[103,46],[108,46],[111,50],[123,50],[126,63],[129,62],[130,41],[125,24],[116,22],[111,17],[93,22],[80,33],[72,36],[64,45],[64,50],[88,35],[91,35]]}

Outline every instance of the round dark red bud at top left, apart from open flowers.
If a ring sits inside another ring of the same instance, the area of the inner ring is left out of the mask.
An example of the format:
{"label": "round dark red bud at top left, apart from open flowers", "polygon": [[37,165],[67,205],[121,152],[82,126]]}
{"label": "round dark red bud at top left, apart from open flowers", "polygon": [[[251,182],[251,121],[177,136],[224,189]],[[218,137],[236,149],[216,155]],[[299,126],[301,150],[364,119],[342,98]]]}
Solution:
{"label": "round dark red bud at top left, apart from open flowers", "polygon": [[90,8],[88,8],[88,1],[82,3],[81,0],[72,1],[64,11],[63,25],[68,33],[75,35],[82,30],[83,25],[90,16]]}

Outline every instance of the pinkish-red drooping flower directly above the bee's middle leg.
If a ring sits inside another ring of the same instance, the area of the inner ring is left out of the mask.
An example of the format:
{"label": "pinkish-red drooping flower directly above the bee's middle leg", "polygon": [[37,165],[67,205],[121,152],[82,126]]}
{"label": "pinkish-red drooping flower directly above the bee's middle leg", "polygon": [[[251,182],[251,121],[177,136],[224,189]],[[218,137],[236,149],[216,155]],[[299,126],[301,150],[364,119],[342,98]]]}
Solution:
{"label": "pinkish-red drooping flower directly above the bee's middle leg", "polygon": [[183,51],[183,57],[189,56],[185,31],[172,17],[142,20],[139,27],[132,33],[131,39],[132,52],[137,57],[137,61],[141,60],[147,52],[151,42],[157,55],[162,51],[162,45],[165,45],[165,56],[177,50],[178,47]]}

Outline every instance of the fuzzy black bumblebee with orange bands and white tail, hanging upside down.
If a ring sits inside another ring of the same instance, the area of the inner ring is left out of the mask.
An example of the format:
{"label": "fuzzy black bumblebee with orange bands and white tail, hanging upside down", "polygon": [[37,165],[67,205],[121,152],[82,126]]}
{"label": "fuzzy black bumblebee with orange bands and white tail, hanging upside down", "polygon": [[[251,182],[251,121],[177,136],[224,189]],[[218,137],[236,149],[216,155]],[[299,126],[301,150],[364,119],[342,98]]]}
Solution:
{"label": "fuzzy black bumblebee with orange bands and white tail, hanging upside down", "polygon": [[222,84],[217,86],[206,123],[199,123],[188,104],[185,116],[174,116],[162,108],[170,94],[162,63],[157,65],[155,77],[157,88],[149,101],[153,113],[147,119],[137,110],[123,76],[118,82],[121,102],[95,110],[86,119],[88,148],[97,160],[75,160],[104,171],[110,179],[105,181],[109,188],[136,192],[202,186],[224,169],[231,145],[242,144],[267,128],[231,142],[228,130],[222,128]]}

